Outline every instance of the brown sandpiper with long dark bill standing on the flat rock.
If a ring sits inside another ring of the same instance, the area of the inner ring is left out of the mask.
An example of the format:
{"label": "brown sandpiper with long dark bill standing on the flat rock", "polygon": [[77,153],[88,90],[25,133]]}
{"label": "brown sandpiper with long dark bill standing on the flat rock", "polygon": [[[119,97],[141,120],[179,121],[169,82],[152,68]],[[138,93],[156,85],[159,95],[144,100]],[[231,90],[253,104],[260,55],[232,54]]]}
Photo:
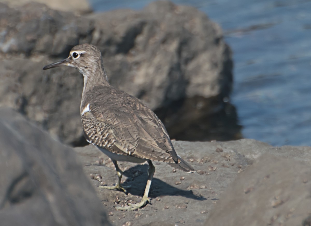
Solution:
{"label": "brown sandpiper with long dark bill standing on the flat rock", "polygon": [[100,49],[95,45],[74,46],[66,59],[49,64],[43,70],[70,66],[83,75],[84,85],[80,104],[81,123],[86,140],[111,158],[118,175],[115,186],[100,186],[123,190],[123,172],[118,161],[147,162],[148,179],[142,200],[136,204],[115,206],[117,210],[137,210],[148,203],[149,189],[155,173],[152,161],[167,162],[182,171],[195,170],[177,155],[165,126],[141,100],[110,85],[104,70]]}

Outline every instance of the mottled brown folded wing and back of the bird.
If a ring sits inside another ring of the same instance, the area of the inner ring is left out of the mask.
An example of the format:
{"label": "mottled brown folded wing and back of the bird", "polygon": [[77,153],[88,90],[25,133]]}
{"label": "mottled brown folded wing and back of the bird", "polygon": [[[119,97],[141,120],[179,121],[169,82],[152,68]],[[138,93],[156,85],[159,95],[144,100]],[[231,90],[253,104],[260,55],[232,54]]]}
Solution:
{"label": "mottled brown folded wing and back of the bird", "polygon": [[159,118],[137,98],[114,92],[118,91],[98,94],[99,101],[91,103],[90,111],[81,116],[90,142],[117,154],[177,163],[177,154]]}

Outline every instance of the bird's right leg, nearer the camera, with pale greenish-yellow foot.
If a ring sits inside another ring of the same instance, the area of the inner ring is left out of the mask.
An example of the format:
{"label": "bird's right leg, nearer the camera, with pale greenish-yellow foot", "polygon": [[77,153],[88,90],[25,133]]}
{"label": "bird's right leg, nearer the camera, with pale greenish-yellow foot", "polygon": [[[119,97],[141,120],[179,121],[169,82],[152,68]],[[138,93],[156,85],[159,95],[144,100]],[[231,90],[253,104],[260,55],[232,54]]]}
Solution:
{"label": "bird's right leg, nearer the camera, with pale greenish-yellow foot", "polygon": [[139,203],[136,204],[131,204],[129,203],[128,206],[124,206],[124,207],[120,207],[120,206],[115,206],[115,208],[117,210],[137,210],[139,208],[141,208],[142,206],[146,205],[147,201],[150,202],[150,199],[148,198],[148,194],[149,194],[149,189],[151,186],[151,181],[153,178],[153,175],[156,171],[156,168],[153,166],[152,162],[150,160],[147,160],[148,164],[149,164],[149,169],[148,169],[148,180],[147,180],[147,184],[146,184],[146,188],[145,188],[145,192],[144,195],[142,196],[142,200]]}

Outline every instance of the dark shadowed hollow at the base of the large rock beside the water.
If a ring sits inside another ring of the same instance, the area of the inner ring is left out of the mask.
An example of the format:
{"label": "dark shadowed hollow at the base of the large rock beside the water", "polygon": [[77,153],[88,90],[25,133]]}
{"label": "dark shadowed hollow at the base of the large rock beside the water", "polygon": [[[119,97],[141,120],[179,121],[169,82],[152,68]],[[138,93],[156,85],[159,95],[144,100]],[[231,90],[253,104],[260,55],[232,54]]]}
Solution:
{"label": "dark shadowed hollow at the base of the large rock beside the water", "polygon": [[171,139],[188,141],[241,139],[235,107],[220,97],[192,97],[173,101],[155,113]]}

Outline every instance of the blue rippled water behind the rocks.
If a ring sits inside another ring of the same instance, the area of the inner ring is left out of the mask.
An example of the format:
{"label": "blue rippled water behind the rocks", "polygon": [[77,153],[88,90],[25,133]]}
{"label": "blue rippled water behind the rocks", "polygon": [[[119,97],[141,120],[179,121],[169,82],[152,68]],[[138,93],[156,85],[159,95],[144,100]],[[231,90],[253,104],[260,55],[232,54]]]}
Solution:
{"label": "blue rippled water behind the rocks", "polygon": [[[151,0],[91,0],[95,11]],[[220,24],[233,50],[236,106],[245,138],[311,146],[311,1],[173,0]]]}

